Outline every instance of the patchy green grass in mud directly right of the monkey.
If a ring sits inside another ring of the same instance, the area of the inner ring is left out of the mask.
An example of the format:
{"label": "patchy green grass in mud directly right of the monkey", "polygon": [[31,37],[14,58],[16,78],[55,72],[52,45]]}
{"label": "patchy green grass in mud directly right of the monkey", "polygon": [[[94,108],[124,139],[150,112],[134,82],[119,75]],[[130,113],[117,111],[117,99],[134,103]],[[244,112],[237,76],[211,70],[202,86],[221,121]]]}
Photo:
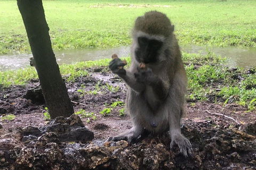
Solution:
{"label": "patchy green grass in mud directly right of the monkey", "polygon": [[256,108],[256,68],[236,71],[225,66],[225,58],[209,53],[183,53],[188,77],[187,98],[211,103],[237,103]]}

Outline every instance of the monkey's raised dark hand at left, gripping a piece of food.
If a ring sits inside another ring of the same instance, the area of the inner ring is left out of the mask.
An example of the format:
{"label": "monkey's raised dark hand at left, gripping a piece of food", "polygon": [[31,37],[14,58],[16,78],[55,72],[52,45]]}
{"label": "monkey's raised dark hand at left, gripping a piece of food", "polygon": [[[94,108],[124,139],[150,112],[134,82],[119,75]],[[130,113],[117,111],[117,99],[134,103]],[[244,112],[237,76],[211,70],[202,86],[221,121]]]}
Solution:
{"label": "monkey's raised dark hand at left, gripping a piece of food", "polygon": [[120,60],[120,58],[114,58],[108,65],[109,69],[115,73],[118,74],[119,76],[124,76],[126,75],[126,70],[123,69],[123,67],[126,64]]}

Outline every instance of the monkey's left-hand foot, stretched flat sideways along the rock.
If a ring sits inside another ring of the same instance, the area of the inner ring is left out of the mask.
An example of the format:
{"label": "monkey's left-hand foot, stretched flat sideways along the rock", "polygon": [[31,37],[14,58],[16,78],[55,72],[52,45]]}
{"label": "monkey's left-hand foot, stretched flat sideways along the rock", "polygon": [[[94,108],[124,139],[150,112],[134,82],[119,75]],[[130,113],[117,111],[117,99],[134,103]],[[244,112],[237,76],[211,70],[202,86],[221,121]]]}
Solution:
{"label": "monkey's left-hand foot, stretched flat sideways along the rock", "polygon": [[140,126],[133,126],[132,129],[116,135],[115,137],[109,137],[107,141],[119,141],[119,140],[126,140],[131,142],[133,139],[138,138],[139,135],[142,133],[142,128]]}

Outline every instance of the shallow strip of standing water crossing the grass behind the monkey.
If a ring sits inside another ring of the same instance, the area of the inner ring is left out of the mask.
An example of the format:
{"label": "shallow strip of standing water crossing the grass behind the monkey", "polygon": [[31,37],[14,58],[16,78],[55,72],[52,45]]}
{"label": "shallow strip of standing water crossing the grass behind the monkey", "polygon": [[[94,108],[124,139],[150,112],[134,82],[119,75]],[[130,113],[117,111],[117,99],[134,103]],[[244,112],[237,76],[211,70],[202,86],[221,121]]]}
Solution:
{"label": "shallow strip of standing water crossing the grass behind the monkey", "polygon": [[[187,53],[201,53],[203,55],[207,54],[208,52],[212,52],[222,57],[227,57],[227,66],[229,67],[256,66],[256,48],[207,48],[203,46],[183,46],[181,47],[181,50]],[[73,49],[54,52],[56,60],[59,64],[70,64],[79,61],[93,61],[102,58],[110,58],[114,53],[116,53],[118,56],[129,56],[130,47],[119,47],[111,49]],[[31,56],[31,54],[0,55],[0,71],[29,67],[29,57]]]}

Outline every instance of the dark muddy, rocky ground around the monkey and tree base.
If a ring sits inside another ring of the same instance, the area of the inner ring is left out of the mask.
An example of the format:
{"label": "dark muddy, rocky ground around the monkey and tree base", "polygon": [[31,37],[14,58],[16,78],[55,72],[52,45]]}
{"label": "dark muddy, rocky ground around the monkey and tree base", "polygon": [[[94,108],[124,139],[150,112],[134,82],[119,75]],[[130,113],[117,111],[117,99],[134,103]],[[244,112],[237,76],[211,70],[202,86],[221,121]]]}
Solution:
{"label": "dark muddy, rocky ground around the monkey and tree base", "polygon": [[[86,70],[86,77],[66,83],[75,112],[88,113],[79,114],[82,124],[54,120],[49,125],[38,80],[0,90],[1,117],[16,116],[0,123],[0,169],[256,169],[256,114],[236,104],[188,101],[181,121],[194,148],[188,158],[178,148],[170,151],[167,133],[132,143],[104,142],[132,126],[129,116],[120,115],[124,106],[111,106],[125,100],[126,86],[106,68]],[[111,109],[108,115],[100,113],[105,108]],[[87,136],[65,141],[70,130]]]}

